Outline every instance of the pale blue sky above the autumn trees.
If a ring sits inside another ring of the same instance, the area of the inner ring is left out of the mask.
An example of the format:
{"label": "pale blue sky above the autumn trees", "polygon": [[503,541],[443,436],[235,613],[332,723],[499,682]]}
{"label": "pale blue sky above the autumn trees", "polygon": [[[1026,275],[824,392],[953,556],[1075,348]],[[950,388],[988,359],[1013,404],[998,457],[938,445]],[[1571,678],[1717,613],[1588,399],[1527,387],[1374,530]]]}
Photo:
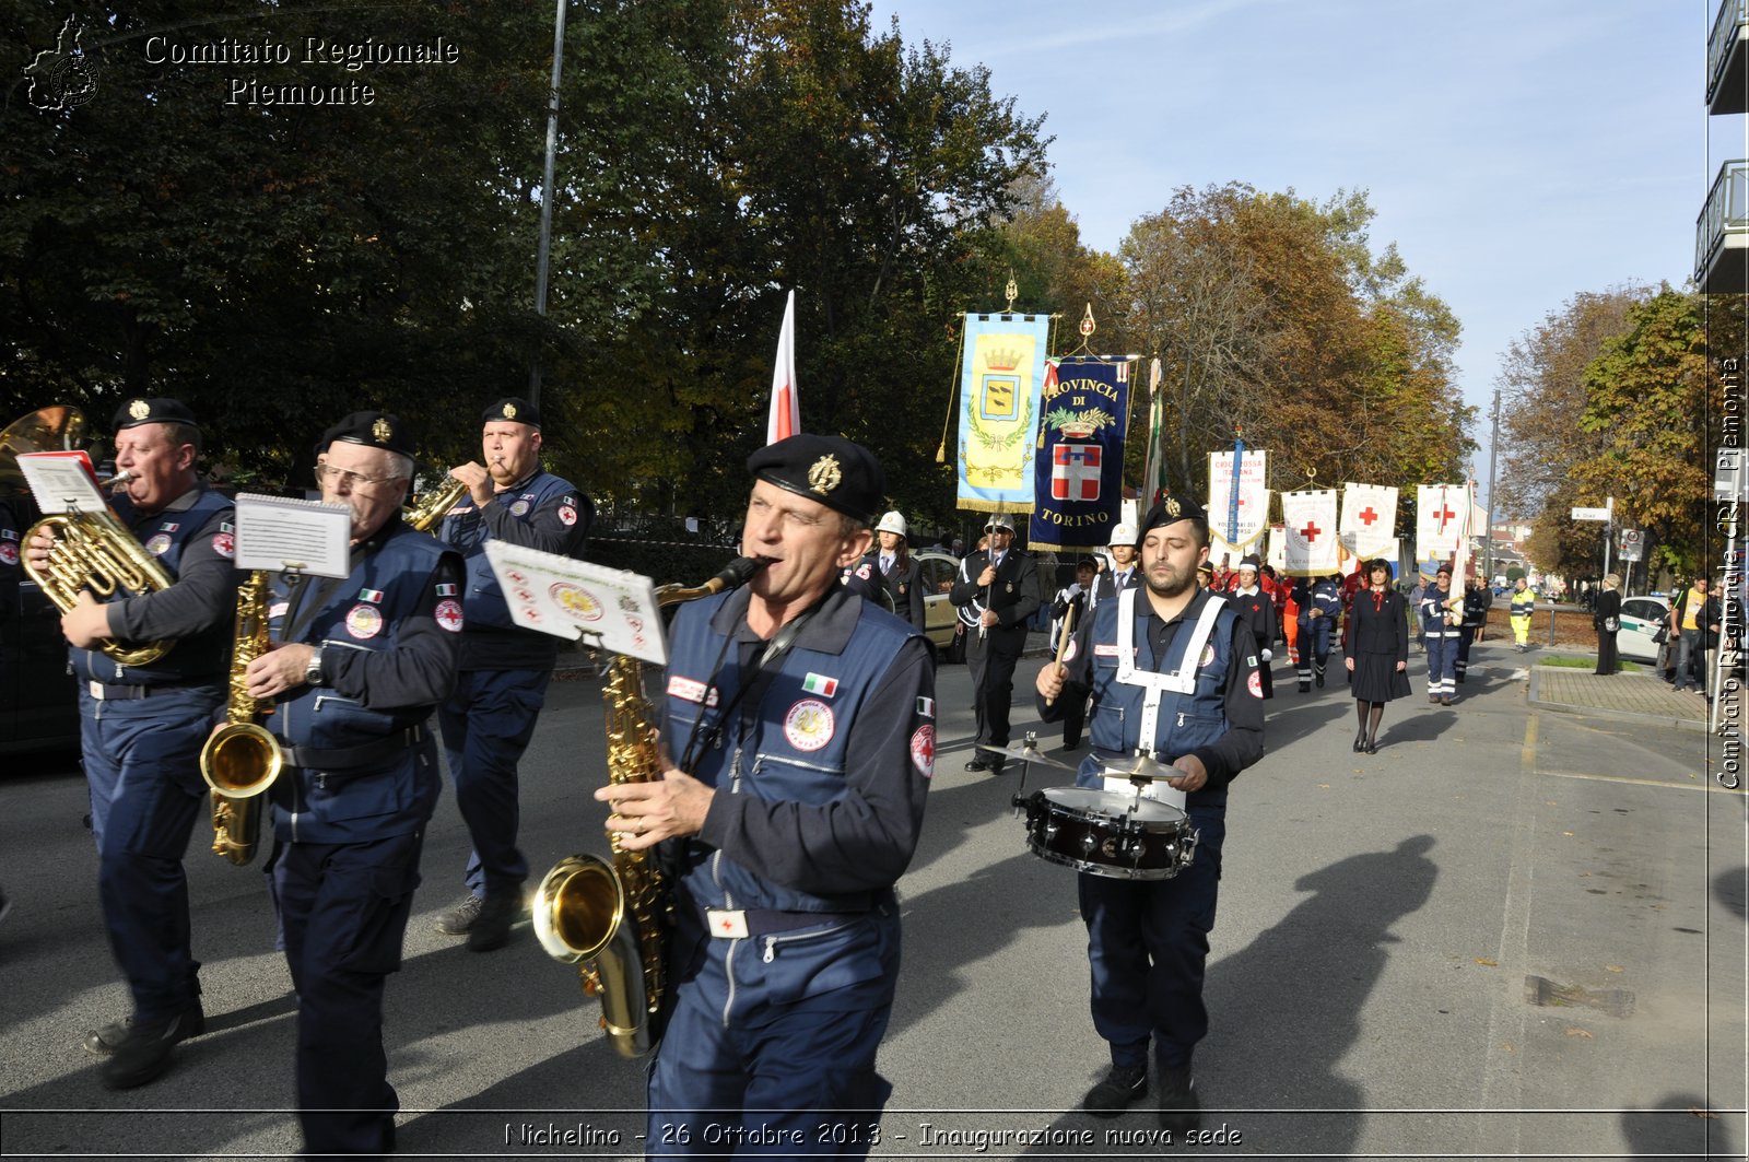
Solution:
{"label": "pale blue sky above the autumn trees", "polygon": [[[1179,186],[1366,189],[1373,250],[1464,324],[1483,411],[1508,343],[1569,296],[1684,284],[1746,117],[1705,116],[1718,0],[876,0],[1046,114],[1081,238],[1116,250]],[[1709,121],[1716,124],[1709,124]]]}

